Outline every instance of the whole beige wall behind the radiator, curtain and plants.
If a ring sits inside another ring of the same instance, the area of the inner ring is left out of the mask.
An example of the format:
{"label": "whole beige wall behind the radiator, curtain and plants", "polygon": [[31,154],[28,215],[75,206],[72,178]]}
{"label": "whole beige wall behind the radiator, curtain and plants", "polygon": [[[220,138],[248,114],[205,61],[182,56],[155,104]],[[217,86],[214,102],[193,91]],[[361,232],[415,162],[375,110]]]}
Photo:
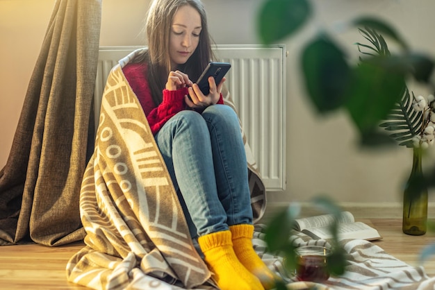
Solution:
{"label": "whole beige wall behind the radiator, curtain and plants", "polygon": [[[104,0],[101,46],[142,45],[143,17],[149,0]],[[217,44],[258,43],[256,12],[262,0],[204,0]],[[329,194],[343,202],[400,201],[400,185],[411,169],[411,151],[361,151],[344,112],[328,117],[315,114],[304,96],[299,51],[319,28],[334,31],[356,15],[377,14],[388,19],[411,46],[434,53],[432,0],[314,0],[315,19],[295,37],[284,41],[287,65],[287,189],[272,192],[270,201],[307,201]],[[54,0],[0,0],[0,168],[6,160],[17,126],[26,85],[38,56]],[[334,31],[350,57],[354,42],[363,38],[350,29]],[[416,92],[417,94],[419,92]],[[270,97],[270,96],[265,96]],[[432,151],[434,151],[433,149]],[[427,161],[433,163],[434,157]]]}

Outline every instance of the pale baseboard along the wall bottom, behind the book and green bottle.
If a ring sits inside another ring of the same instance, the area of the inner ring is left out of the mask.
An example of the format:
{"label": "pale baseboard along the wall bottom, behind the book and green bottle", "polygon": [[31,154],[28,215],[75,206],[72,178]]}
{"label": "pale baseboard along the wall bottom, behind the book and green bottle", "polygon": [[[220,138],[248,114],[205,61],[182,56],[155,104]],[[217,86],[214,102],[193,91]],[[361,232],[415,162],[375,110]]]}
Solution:
{"label": "pale baseboard along the wall bottom, behind the book and green bottle", "polygon": [[[313,216],[323,214],[316,209],[312,203],[299,202],[299,216]],[[273,202],[268,203],[264,219],[270,219],[280,210],[284,210],[290,203]],[[347,210],[354,214],[356,219],[402,219],[402,203],[338,203],[343,210]],[[429,219],[435,219],[435,203],[431,202],[428,205]]]}

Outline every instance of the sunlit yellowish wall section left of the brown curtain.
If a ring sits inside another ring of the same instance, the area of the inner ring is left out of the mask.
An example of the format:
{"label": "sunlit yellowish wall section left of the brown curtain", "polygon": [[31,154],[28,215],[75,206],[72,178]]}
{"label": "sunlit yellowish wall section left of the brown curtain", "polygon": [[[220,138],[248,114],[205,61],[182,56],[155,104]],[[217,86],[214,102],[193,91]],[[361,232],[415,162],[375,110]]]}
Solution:
{"label": "sunlit yellowish wall section left of the brown curtain", "polygon": [[53,3],[0,0],[0,168],[9,155]]}

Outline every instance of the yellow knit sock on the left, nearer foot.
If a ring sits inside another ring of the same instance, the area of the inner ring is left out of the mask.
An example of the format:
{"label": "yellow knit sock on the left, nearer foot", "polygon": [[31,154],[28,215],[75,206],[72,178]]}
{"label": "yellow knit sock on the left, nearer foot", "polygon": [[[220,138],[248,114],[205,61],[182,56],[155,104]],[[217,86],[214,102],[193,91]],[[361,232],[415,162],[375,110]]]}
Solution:
{"label": "yellow knit sock on the left, nearer foot", "polygon": [[213,232],[198,239],[204,260],[214,273],[213,278],[222,290],[263,290],[256,276],[240,264],[231,243],[231,232]]}

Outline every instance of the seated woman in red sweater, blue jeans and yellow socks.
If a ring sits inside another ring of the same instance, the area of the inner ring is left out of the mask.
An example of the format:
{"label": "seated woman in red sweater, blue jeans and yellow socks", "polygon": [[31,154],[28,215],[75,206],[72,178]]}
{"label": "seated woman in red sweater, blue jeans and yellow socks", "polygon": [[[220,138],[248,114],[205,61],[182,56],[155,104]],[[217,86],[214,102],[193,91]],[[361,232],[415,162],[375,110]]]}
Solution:
{"label": "seated woman in red sweater, blue jeans and yellow socks", "polygon": [[[204,96],[192,82],[210,60],[199,0],[155,0],[149,49],[123,68],[165,160],[204,260],[221,289],[270,289],[272,272],[252,248],[245,148],[236,113],[223,104],[223,79]],[[190,96],[190,98],[189,98]]]}

